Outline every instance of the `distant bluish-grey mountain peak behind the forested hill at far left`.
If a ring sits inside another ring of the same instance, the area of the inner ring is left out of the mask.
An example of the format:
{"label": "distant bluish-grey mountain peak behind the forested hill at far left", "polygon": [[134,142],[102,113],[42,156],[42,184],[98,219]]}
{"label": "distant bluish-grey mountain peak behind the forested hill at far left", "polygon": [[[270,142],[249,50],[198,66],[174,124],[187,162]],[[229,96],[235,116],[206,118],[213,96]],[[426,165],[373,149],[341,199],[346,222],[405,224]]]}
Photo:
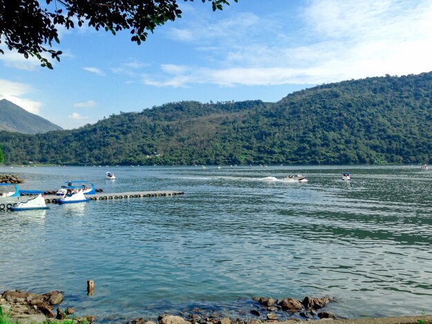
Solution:
{"label": "distant bluish-grey mountain peak behind the forested hill at far left", "polygon": [[0,100],[0,130],[37,134],[61,129],[60,126],[24,110],[19,105],[6,99]]}

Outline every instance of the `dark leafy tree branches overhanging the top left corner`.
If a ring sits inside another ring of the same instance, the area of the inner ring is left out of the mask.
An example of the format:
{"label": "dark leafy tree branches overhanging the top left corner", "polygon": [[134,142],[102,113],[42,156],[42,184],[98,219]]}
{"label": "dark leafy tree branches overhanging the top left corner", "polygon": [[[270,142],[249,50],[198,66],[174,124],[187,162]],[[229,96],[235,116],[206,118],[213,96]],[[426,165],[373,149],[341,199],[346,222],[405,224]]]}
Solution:
{"label": "dark leafy tree branches overhanging the top left corner", "polygon": [[[112,34],[126,29],[132,34],[130,40],[140,44],[157,26],[181,17],[178,1],[0,0],[0,43],[4,41],[9,50],[17,50],[26,59],[37,57],[41,66],[52,69],[50,61],[42,55],[60,61],[61,51],[52,50],[53,42],[60,43],[58,28],[86,24]],[[201,1],[211,2],[213,11],[230,4],[228,0]],[[0,52],[4,54],[1,49]]]}

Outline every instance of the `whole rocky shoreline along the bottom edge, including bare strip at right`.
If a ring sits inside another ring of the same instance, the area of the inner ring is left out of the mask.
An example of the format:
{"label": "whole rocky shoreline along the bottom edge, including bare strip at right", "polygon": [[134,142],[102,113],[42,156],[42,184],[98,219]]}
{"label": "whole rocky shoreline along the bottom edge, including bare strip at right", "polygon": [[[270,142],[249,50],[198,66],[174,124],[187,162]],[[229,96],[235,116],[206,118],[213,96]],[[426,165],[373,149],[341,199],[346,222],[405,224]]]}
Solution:
{"label": "whole rocky shoreline along the bottom edge, including bare strip at right", "polygon": [[[104,318],[95,316],[75,316],[75,311],[65,307],[64,311],[57,307],[63,302],[63,293],[59,291],[46,294],[34,294],[7,290],[0,295],[1,311],[10,319],[11,323],[68,323],[92,324],[93,322],[108,322]],[[306,296],[302,301],[295,298],[273,299],[255,297],[251,300],[251,308],[244,310],[244,315],[237,318],[224,316],[223,312],[209,312],[194,308],[178,314],[161,314],[157,318],[159,324],[260,324],[277,323],[291,324],[299,321],[331,321],[335,324],[424,324],[432,323],[431,315],[413,317],[389,318],[339,318],[337,315],[326,312],[322,308],[331,302],[328,297],[313,298]],[[56,310],[55,307],[57,307]],[[1,312],[0,312],[1,315]],[[1,316],[0,316],[1,318]],[[66,322],[67,321],[67,322]],[[129,318],[117,323],[128,324],[157,324],[144,318]],[[3,323],[3,322],[2,322]],[[8,323],[8,322],[6,322]]]}

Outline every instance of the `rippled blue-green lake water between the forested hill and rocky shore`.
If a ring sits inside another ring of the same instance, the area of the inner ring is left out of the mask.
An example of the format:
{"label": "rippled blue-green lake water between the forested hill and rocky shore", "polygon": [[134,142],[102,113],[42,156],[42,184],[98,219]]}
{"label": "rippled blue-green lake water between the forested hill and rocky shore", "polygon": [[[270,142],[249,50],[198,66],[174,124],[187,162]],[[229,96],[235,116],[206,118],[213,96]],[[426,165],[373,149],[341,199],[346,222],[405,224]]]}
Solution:
{"label": "rippled blue-green lake water between the forested hill and rocky shore", "polygon": [[[21,176],[22,189],[86,179],[104,192],[185,192],[0,212],[0,292],[61,290],[63,307],[100,321],[191,307],[248,314],[253,296],[331,296],[328,310],[350,318],[432,310],[432,172],[417,165],[0,173]],[[297,173],[308,183],[266,179]]]}

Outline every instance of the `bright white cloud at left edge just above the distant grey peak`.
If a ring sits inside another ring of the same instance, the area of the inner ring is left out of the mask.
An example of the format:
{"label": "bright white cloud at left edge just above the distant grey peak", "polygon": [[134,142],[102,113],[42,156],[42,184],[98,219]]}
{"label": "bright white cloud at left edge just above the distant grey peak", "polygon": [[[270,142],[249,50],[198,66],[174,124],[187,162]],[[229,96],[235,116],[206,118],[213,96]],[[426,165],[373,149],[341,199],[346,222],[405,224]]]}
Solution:
{"label": "bright white cloud at left edge just above the distant grey peak", "polygon": [[7,99],[32,114],[39,114],[42,103],[23,98],[23,95],[32,91],[32,87],[26,83],[0,79],[0,99]]}

